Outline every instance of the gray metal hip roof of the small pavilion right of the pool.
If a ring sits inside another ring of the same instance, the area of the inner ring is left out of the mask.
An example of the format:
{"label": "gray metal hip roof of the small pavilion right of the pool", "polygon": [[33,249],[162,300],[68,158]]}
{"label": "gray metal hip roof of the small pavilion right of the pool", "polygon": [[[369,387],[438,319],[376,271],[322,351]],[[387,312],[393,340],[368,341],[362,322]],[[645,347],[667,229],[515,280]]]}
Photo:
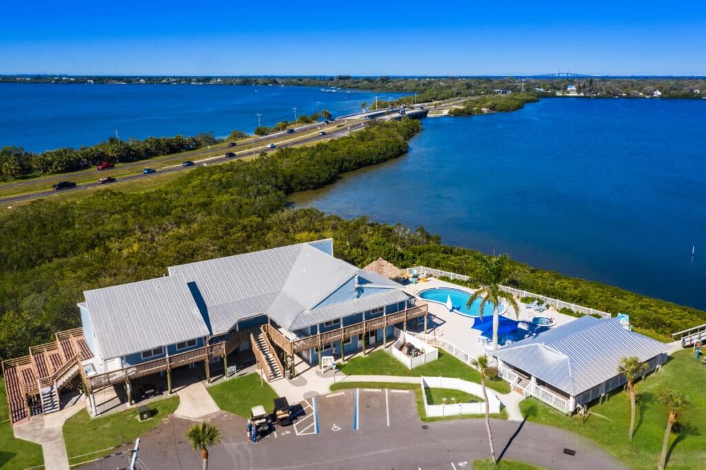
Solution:
{"label": "gray metal hip roof of the small pavilion right of the pool", "polygon": [[621,358],[648,361],[669,347],[625,330],[617,318],[584,316],[490,354],[570,395],[618,375]]}

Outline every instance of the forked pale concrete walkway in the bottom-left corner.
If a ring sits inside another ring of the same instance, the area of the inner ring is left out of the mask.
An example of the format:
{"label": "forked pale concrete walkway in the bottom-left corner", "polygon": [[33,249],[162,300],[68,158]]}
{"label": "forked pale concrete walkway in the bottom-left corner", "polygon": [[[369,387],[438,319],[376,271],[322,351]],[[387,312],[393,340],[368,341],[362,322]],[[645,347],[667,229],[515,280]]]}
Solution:
{"label": "forked pale concrete walkway in the bottom-left corner", "polygon": [[56,413],[32,416],[29,423],[15,426],[15,437],[42,446],[45,470],[68,470],[68,455],[64,443],[64,423],[85,408],[85,400],[66,406]]}

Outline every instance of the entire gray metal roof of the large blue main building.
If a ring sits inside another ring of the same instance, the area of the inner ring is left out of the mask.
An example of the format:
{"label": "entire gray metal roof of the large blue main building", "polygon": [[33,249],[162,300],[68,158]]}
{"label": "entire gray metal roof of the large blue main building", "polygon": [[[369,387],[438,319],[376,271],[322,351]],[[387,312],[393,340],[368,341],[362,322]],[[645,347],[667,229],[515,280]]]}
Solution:
{"label": "entire gray metal roof of the large blue main building", "polygon": [[[404,301],[400,287],[299,243],[172,266],[169,277],[84,294],[102,351],[111,358],[221,335],[239,320],[263,314],[299,329]],[[334,292],[340,294],[334,303],[316,308]],[[138,331],[126,334],[126,328]]]}

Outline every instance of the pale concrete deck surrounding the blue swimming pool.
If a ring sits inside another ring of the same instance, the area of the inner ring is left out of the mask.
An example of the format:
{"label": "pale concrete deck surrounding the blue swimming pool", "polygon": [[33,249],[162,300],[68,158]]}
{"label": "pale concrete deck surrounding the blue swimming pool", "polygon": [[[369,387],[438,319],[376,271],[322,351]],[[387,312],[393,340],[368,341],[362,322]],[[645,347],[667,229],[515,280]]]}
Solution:
{"label": "pale concrete deck surrounding the blue swimming pool", "polygon": [[[473,292],[473,289],[462,287],[457,284],[451,284],[450,282],[440,281],[439,279],[433,277],[429,278],[427,282],[407,284],[405,286],[405,291],[409,294],[417,296],[419,291],[423,291],[424,289],[434,289],[436,287],[448,287],[450,289],[459,289],[469,293]],[[574,317],[559,313],[554,308],[548,308],[543,313],[532,311],[529,308],[523,308],[524,305],[520,303],[520,299],[516,300],[520,306],[519,317],[515,316],[515,309],[512,306],[507,306],[503,316],[510,318],[511,320],[525,320],[528,322],[532,321],[532,316],[550,317],[554,318],[556,321],[555,327],[558,325],[565,325],[566,323],[575,320]],[[473,326],[474,318],[461,315],[460,313],[449,312],[445,306],[441,305],[441,303],[426,303],[429,304],[429,335],[442,337],[455,347],[463,349],[472,356],[477,357],[483,354],[483,346],[481,343],[477,342],[481,332],[479,330],[472,330],[471,328]]]}

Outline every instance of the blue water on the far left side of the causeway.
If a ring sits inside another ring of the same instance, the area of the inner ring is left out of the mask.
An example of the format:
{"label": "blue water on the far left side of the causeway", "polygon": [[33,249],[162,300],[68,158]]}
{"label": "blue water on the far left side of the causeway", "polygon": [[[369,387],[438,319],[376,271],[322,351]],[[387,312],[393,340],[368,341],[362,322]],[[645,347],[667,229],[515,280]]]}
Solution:
{"label": "blue water on the far left side of the causeway", "polygon": [[[263,126],[292,121],[317,108],[334,116],[360,109],[375,95],[387,100],[403,93],[325,93],[309,87],[231,85],[0,85],[0,147],[20,145],[41,152],[93,145],[115,135],[196,135],[233,129],[251,133],[261,113]],[[317,102],[320,102],[317,105]]]}

